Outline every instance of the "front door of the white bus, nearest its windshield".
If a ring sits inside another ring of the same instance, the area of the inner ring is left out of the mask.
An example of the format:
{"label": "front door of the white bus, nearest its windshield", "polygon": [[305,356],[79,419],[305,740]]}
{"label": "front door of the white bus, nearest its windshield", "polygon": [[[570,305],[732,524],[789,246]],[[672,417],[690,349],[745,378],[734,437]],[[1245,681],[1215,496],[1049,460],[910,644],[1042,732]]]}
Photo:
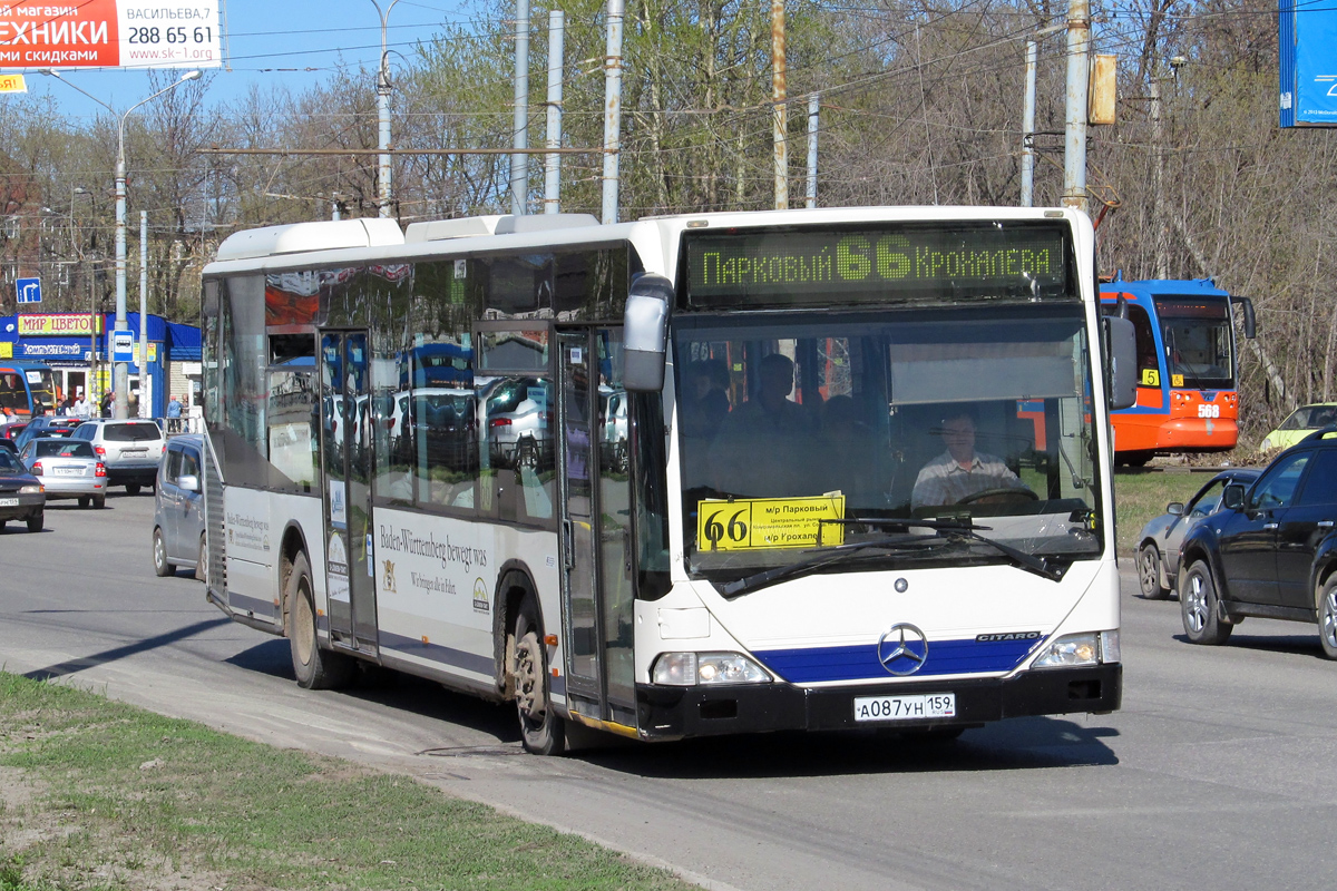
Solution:
{"label": "front door of the white bus, nearest its windshield", "polygon": [[563,637],[582,715],[635,727],[631,477],[622,331],[559,331]]}

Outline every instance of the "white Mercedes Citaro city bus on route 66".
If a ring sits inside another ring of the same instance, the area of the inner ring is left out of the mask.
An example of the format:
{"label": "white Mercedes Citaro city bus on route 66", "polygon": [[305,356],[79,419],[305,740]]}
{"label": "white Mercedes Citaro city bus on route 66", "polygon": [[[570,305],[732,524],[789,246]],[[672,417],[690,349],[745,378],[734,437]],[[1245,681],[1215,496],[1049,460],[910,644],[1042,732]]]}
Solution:
{"label": "white Mercedes Citaro city bus on route 66", "polygon": [[1094,255],[1031,208],[239,232],[209,598],[302,687],[511,700],[537,753],[1108,712],[1134,363]]}

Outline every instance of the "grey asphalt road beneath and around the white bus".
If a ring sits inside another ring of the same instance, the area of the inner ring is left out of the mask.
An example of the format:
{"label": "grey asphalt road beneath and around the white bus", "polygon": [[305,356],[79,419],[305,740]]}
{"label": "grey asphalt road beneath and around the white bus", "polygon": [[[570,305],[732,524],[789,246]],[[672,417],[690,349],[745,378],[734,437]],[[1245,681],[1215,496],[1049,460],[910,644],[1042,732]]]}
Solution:
{"label": "grey asphalt road beneath and around the white bus", "polygon": [[[715,888],[1310,887],[1337,866],[1337,664],[1251,618],[1183,640],[1126,572],[1123,711],[935,748],[775,735],[521,752],[509,709],[404,679],[299,691],[286,641],[156,578],[151,496],[0,536],[0,664],[285,747],[412,772]],[[1126,570],[1131,569],[1131,561]]]}

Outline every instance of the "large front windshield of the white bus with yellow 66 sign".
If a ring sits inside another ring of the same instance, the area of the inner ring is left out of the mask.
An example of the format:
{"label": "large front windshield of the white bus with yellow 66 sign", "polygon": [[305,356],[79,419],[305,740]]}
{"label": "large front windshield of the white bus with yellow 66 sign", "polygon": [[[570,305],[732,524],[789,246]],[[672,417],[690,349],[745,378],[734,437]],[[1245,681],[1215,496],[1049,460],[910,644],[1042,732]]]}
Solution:
{"label": "large front windshield of the white bus with yellow 66 sign", "polygon": [[[1099,554],[1088,349],[1076,303],[679,315],[689,572],[729,581],[810,560],[885,538],[889,518],[968,522],[1027,554]],[[1001,558],[964,541],[858,565]]]}

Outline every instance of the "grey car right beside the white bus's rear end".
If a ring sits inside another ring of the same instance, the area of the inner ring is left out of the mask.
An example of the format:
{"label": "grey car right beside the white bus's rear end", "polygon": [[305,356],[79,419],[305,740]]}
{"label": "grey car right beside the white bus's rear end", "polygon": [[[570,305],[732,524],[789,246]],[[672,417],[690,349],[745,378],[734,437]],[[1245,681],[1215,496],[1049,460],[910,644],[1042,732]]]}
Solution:
{"label": "grey car right beside the white bus's rear end", "polygon": [[158,464],[154,494],[154,572],[171,576],[176,566],[205,578],[209,546],[205,540],[203,476],[205,438],[172,437]]}

